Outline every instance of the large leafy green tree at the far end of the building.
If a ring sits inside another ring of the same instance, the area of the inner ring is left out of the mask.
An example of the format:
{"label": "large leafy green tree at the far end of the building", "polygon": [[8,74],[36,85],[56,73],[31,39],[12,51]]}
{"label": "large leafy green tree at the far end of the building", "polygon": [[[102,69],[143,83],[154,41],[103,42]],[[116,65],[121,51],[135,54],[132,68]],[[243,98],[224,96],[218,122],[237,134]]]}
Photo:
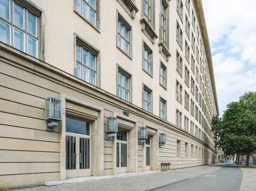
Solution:
{"label": "large leafy green tree at the far end of the building", "polygon": [[215,145],[227,155],[247,155],[256,151],[256,92],[248,92],[237,102],[231,102],[223,116],[212,118]]}

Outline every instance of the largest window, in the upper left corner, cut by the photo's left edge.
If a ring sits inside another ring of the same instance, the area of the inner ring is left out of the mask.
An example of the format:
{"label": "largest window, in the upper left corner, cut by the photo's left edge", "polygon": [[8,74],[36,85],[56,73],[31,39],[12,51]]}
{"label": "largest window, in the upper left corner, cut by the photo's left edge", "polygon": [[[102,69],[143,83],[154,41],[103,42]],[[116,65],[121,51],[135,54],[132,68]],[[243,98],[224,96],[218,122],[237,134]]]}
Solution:
{"label": "largest window, in the upper left corner, cut by the photo's left edge", "polygon": [[39,15],[14,0],[0,0],[0,41],[38,57]]}

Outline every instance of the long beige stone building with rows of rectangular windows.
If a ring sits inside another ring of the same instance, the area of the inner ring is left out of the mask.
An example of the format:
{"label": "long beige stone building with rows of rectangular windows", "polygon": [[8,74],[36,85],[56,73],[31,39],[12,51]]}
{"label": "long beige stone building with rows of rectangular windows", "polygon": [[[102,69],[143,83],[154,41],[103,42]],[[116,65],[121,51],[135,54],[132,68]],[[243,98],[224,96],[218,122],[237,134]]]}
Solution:
{"label": "long beige stone building with rows of rectangular windows", "polygon": [[206,165],[218,114],[201,0],[0,1],[0,181]]}

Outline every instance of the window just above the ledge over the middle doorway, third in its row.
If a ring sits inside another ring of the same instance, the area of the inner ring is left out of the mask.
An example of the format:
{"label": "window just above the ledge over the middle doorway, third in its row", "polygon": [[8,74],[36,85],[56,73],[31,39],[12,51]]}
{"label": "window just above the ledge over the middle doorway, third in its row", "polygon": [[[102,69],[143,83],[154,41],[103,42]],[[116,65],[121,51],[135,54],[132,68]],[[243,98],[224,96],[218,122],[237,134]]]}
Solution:
{"label": "window just above the ledge over the middle doorway, third in its row", "polygon": [[125,101],[130,101],[131,75],[122,69],[118,69],[117,76],[117,96]]}

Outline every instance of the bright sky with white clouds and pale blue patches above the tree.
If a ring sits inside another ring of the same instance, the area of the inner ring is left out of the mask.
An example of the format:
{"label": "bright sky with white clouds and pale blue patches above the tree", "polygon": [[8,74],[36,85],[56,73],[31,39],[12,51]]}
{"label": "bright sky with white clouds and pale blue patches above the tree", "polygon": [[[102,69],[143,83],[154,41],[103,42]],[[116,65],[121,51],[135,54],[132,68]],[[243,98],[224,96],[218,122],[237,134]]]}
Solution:
{"label": "bright sky with white clouds and pale blue patches above the tree", "polygon": [[256,0],[202,0],[220,115],[256,91]]}

